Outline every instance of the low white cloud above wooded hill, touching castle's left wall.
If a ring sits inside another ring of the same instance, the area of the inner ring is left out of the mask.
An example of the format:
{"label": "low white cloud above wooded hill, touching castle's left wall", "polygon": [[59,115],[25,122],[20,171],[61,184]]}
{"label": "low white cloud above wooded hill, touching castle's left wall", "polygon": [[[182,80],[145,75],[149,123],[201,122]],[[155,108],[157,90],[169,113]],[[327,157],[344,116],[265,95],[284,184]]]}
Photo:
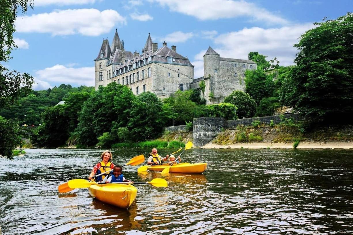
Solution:
{"label": "low white cloud above wooded hill, touching castle's left wall", "polygon": [[72,86],[95,86],[94,67],[68,68],[60,64],[35,72],[38,81]]}

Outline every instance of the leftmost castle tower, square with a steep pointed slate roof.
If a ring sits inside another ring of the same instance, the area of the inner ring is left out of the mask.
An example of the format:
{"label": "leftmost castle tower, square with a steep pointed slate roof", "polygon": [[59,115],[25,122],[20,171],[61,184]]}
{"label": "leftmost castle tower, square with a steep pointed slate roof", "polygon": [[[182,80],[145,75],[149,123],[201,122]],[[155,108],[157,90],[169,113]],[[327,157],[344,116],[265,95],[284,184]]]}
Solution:
{"label": "leftmost castle tower, square with a steep pointed slate roof", "polygon": [[103,39],[101,49],[98,52],[97,58],[94,60],[94,70],[96,75],[96,89],[99,85],[107,85],[107,62],[112,56],[108,39]]}

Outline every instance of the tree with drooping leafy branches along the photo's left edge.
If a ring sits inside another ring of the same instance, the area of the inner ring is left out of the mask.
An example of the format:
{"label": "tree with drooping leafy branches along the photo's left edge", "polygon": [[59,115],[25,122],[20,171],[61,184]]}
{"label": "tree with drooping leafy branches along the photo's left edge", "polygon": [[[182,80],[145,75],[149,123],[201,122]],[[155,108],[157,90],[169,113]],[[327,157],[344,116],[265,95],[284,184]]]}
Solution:
{"label": "tree with drooping leafy branches along the photo's left edge", "polygon": [[[9,70],[1,62],[11,59],[10,53],[17,46],[14,44],[14,22],[19,9],[27,11],[27,5],[32,6],[31,0],[0,0],[0,110],[13,104],[20,97],[31,91],[34,82],[27,73],[20,74],[16,70]],[[12,149],[21,144],[21,134],[17,130],[17,122],[1,118],[0,122],[0,154],[12,159]],[[10,140],[6,138],[13,135]]]}

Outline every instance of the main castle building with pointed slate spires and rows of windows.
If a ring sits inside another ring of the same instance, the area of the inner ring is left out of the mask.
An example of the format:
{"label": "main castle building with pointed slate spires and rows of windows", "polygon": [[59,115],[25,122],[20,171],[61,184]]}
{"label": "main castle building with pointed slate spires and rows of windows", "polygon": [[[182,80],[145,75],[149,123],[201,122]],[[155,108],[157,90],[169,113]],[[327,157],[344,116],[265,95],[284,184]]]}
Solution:
{"label": "main castle building with pointed slate spires and rows of windows", "polygon": [[116,31],[112,47],[107,39],[103,40],[94,60],[95,88],[116,82],[130,87],[134,94],[150,91],[160,98],[190,89],[194,66],[189,59],[178,54],[176,46],[168,48],[166,42],[157,48],[157,43],[153,43],[148,35],[142,54],[126,51]]}

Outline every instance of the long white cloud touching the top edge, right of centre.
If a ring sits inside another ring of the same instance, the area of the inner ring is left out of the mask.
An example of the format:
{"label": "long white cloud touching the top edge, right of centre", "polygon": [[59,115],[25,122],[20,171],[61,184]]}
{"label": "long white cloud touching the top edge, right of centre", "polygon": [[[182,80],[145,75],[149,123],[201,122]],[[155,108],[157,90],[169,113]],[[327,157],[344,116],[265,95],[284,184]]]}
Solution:
{"label": "long white cloud touching the top edge, right of centre", "polygon": [[287,24],[288,21],[270,13],[256,4],[244,0],[150,0],[170,11],[179,12],[200,20],[249,17],[268,24]]}

